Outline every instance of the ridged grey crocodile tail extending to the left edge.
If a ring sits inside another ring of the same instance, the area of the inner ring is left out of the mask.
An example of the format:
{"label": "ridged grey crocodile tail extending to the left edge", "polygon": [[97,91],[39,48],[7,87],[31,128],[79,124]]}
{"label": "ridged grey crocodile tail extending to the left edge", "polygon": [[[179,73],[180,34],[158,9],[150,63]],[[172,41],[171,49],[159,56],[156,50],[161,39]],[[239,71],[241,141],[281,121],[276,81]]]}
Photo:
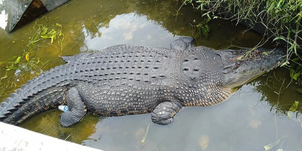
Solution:
{"label": "ridged grey crocodile tail extending to the left edge", "polygon": [[21,119],[61,104],[64,89],[69,84],[66,70],[66,65],[57,66],[21,85],[0,103],[0,121],[18,124]]}

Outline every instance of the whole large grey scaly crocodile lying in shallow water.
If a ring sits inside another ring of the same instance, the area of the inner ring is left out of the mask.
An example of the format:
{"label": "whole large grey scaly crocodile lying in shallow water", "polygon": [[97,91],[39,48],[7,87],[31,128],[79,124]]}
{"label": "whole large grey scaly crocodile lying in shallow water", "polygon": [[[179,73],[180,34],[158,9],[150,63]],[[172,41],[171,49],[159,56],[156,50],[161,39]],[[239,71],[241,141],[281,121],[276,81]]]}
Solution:
{"label": "whole large grey scaly crocodile lying in shallow water", "polygon": [[0,121],[17,125],[67,105],[59,117],[63,127],[87,112],[151,113],[154,123],[168,125],[184,107],[225,101],[235,88],[277,67],[284,56],[277,48],[215,50],[192,47],[189,38],[173,42],[171,49],[122,44],[62,57],[66,64],[27,81],[0,103]]}

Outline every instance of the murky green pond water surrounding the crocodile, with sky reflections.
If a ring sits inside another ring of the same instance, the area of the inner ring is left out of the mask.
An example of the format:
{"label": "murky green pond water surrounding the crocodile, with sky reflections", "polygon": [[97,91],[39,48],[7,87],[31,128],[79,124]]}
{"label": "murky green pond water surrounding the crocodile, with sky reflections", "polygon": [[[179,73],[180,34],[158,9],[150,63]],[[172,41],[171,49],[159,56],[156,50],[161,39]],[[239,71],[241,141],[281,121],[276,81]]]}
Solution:
{"label": "murky green pond water surrounding the crocodile, with sky reflections", "polygon": [[[33,76],[63,64],[58,56],[98,51],[116,44],[169,48],[178,37],[198,37],[192,34],[189,23],[202,21],[200,12],[183,6],[177,14],[174,9],[180,6],[174,0],[72,0],[12,34],[0,31],[0,100]],[[48,32],[62,31],[63,45],[59,45],[59,39],[53,43],[42,39],[28,47],[38,24],[46,22]],[[215,19],[209,25],[208,38],[198,38],[196,45],[215,49],[230,45],[253,47],[261,40],[252,31],[243,34],[245,27],[227,20]],[[264,47],[272,48],[274,44]],[[22,54],[29,54],[29,61],[22,57],[18,64],[7,64]],[[6,66],[12,69],[3,70]],[[294,101],[301,102],[302,95],[296,92],[295,84],[289,83],[287,70],[276,69],[244,85],[222,104],[183,109],[168,126],[152,123],[151,114],[88,114],[71,128],[62,128],[57,109],[40,113],[19,126],[105,151],[264,151],[269,144],[275,144],[269,151],[300,151],[302,106],[298,106],[300,112],[292,119],[286,111]],[[149,123],[148,135],[141,143]]]}

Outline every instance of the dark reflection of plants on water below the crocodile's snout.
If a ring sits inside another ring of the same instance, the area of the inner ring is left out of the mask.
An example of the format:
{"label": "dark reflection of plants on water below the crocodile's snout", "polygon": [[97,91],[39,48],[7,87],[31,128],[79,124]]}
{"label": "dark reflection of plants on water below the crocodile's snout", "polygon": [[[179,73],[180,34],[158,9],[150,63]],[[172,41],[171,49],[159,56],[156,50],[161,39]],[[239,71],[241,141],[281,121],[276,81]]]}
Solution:
{"label": "dark reflection of plants on water below the crocodile's snout", "polygon": [[[282,68],[276,69],[274,72],[266,74],[267,76],[262,76],[252,82],[257,85],[256,91],[262,94],[261,101],[267,101],[271,110],[276,108],[278,114],[286,114],[293,103],[301,102],[302,98],[302,94],[296,90],[299,85],[293,84],[289,74],[283,71]],[[297,113],[302,113],[301,104],[298,105]],[[297,118],[299,116],[301,114],[297,114]]]}

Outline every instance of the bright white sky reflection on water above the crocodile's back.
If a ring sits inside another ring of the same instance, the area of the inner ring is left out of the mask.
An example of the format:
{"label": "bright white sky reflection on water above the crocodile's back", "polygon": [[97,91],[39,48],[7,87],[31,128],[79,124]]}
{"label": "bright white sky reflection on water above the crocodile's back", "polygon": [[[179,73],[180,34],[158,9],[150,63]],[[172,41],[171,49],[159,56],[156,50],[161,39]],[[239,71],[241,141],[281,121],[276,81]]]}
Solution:
{"label": "bright white sky reflection on water above the crocodile's back", "polygon": [[170,48],[170,41],[177,38],[156,22],[148,20],[147,16],[135,12],[117,15],[108,25],[100,23],[94,30],[84,24],[83,33],[85,46],[90,50],[102,50],[117,44]]}

